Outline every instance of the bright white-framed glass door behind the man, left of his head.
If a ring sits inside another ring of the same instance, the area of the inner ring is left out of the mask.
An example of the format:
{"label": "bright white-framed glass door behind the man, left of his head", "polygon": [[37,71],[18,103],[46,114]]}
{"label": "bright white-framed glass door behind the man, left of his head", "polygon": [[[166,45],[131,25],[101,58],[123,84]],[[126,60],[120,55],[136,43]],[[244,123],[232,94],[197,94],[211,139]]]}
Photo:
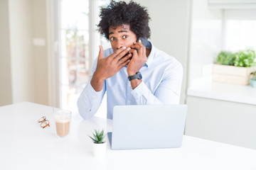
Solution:
{"label": "bright white-framed glass door behind the man, left of his head", "polygon": [[90,67],[105,45],[95,25],[99,6],[108,0],[59,1],[59,77],[60,108],[77,111],[77,100],[90,77]]}

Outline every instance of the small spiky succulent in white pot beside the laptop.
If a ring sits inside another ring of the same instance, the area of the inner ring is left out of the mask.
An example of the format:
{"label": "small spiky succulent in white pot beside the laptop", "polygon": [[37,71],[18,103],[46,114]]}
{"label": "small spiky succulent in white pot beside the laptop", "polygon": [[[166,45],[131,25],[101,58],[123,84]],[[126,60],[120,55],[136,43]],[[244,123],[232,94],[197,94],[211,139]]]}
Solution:
{"label": "small spiky succulent in white pot beside the laptop", "polygon": [[104,130],[95,130],[95,133],[92,133],[92,136],[89,136],[92,139],[92,154],[95,157],[104,157],[106,154],[107,142],[105,139]]}

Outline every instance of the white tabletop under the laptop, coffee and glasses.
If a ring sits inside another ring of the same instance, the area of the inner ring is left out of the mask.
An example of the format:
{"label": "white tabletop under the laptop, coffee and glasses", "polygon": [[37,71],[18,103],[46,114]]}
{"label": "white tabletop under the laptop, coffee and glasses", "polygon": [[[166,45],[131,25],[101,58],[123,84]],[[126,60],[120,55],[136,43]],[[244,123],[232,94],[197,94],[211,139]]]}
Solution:
{"label": "white tabletop under the laptop, coffee and glasses", "polygon": [[[256,150],[184,135],[176,149],[112,150],[92,156],[94,128],[112,129],[112,120],[83,120],[73,114],[70,136],[55,137],[53,108],[36,103],[0,107],[0,169],[256,169]],[[37,123],[45,115],[50,128]],[[108,142],[108,140],[107,140]]]}

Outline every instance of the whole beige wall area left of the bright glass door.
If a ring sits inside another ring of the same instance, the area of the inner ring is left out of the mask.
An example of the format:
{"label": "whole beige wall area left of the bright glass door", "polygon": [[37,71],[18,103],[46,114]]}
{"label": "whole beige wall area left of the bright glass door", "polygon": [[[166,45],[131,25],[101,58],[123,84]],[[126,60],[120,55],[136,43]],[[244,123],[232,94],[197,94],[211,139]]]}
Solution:
{"label": "whole beige wall area left of the bright glass door", "polygon": [[[48,105],[46,0],[3,0],[0,9],[0,106]],[[45,45],[34,45],[34,38]]]}

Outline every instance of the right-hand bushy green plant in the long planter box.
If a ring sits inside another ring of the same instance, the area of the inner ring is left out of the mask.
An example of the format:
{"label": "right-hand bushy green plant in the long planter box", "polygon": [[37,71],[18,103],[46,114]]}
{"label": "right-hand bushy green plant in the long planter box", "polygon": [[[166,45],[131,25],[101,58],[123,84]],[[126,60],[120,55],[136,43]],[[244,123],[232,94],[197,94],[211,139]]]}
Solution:
{"label": "right-hand bushy green plant in the long planter box", "polygon": [[242,50],[235,53],[235,62],[236,67],[252,67],[255,66],[255,51],[254,50]]}

